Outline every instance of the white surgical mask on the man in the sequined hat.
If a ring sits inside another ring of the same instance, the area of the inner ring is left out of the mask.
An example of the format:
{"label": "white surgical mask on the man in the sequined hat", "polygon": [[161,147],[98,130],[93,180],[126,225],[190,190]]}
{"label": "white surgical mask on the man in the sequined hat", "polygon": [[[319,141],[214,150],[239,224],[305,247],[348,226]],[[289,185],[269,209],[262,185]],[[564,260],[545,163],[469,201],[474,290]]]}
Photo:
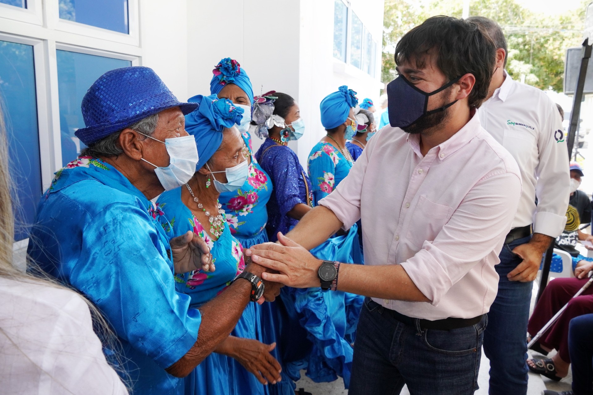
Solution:
{"label": "white surgical mask on the man in the sequined hat", "polygon": [[[138,131],[138,133],[140,132]],[[150,137],[152,140],[157,140],[147,134],[144,134],[144,136]],[[148,162],[148,160],[144,158],[142,158],[142,160],[155,166],[156,169],[154,169],[154,172],[157,174],[158,181],[161,182],[165,191],[181,187],[181,185],[189,181],[196,172],[198,161],[196,140],[193,136],[183,136],[165,139],[164,142],[157,140],[157,142],[165,144],[167,153],[169,154],[169,165],[166,168],[161,168]]]}

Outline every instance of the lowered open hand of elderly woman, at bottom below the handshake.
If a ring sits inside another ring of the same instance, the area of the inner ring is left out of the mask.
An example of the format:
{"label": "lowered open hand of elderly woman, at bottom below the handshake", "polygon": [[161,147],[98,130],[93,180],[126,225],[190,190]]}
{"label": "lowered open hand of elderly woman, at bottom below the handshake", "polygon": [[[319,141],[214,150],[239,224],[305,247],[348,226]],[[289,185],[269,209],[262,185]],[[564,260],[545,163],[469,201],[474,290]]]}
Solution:
{"label": "lowered open hand of elderly woman, at bottom below the handshake", "polygon": [[276,384],[282,380],[280,377],[282,368],[276,358],[270,354],[270,351],[276,348],[276,343],[264,344],[254,339],[228,336],[221,346],[215,351],[237,359],[247,371],[253,373],[260,383],[264,385],[268,382]]}

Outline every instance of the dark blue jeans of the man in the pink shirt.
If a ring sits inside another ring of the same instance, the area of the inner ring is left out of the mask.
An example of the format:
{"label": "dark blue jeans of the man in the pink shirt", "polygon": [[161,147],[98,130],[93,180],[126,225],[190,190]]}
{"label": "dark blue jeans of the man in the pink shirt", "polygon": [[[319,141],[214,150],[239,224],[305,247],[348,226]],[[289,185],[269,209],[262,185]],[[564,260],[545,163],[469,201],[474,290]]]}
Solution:
{"label": "dark blue jeans of the man in the pink shirt", "polygon": [[349,395],[469,395],[477,390],[487,317],[476,325],[420,329],[365,298],[356,332]]}

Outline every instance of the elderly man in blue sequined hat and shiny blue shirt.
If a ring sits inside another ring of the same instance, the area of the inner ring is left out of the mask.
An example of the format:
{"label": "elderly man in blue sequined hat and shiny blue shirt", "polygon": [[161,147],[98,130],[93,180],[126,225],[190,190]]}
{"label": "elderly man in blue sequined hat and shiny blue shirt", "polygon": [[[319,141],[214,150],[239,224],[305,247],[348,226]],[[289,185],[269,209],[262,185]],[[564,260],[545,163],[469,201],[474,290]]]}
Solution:
{"label": "elderly man in blue sequined hat and shiny blue shirt", "polygon": [[104,314],[122,345],[106,349],[107,357],[123,354],[136,394],[181,393],[180,377],[227,338],[250,301],[248,281],[235,281],[199,310],[175,290],[174,274],[215,269],[193,232],[167,241],[162,210],[151,202],[195,172],[184,115],[196,107],[179,102],[146,67],[97,79],[82,99],[87,127],[76,131],[87,147],[56,172],[31,231],[28,253],[40,269]]}

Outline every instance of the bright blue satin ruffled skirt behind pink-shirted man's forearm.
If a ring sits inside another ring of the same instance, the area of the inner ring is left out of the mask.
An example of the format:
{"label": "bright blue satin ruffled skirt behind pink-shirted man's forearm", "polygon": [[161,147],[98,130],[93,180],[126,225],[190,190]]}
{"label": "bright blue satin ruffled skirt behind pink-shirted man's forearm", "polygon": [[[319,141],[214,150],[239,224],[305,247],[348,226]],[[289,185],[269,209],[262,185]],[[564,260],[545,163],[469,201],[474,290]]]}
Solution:
{"label": "bright blue satin ruffled skirt behind pink-shirted man's forearm", "polygon": [[[345,236],[332,237],[311,250],[327,261],[363,263],[354,225]],[[281,326],[286,374],[297,381],[300,370],[320,383],[334,381],[337,376],[349,387],[352,370],[352,343],[364,297],[343,291],[322,291],[320,288],[297,289],[284,287],[280,293],[283,307]],[[285,330],[286,327],[299,327]]]}

